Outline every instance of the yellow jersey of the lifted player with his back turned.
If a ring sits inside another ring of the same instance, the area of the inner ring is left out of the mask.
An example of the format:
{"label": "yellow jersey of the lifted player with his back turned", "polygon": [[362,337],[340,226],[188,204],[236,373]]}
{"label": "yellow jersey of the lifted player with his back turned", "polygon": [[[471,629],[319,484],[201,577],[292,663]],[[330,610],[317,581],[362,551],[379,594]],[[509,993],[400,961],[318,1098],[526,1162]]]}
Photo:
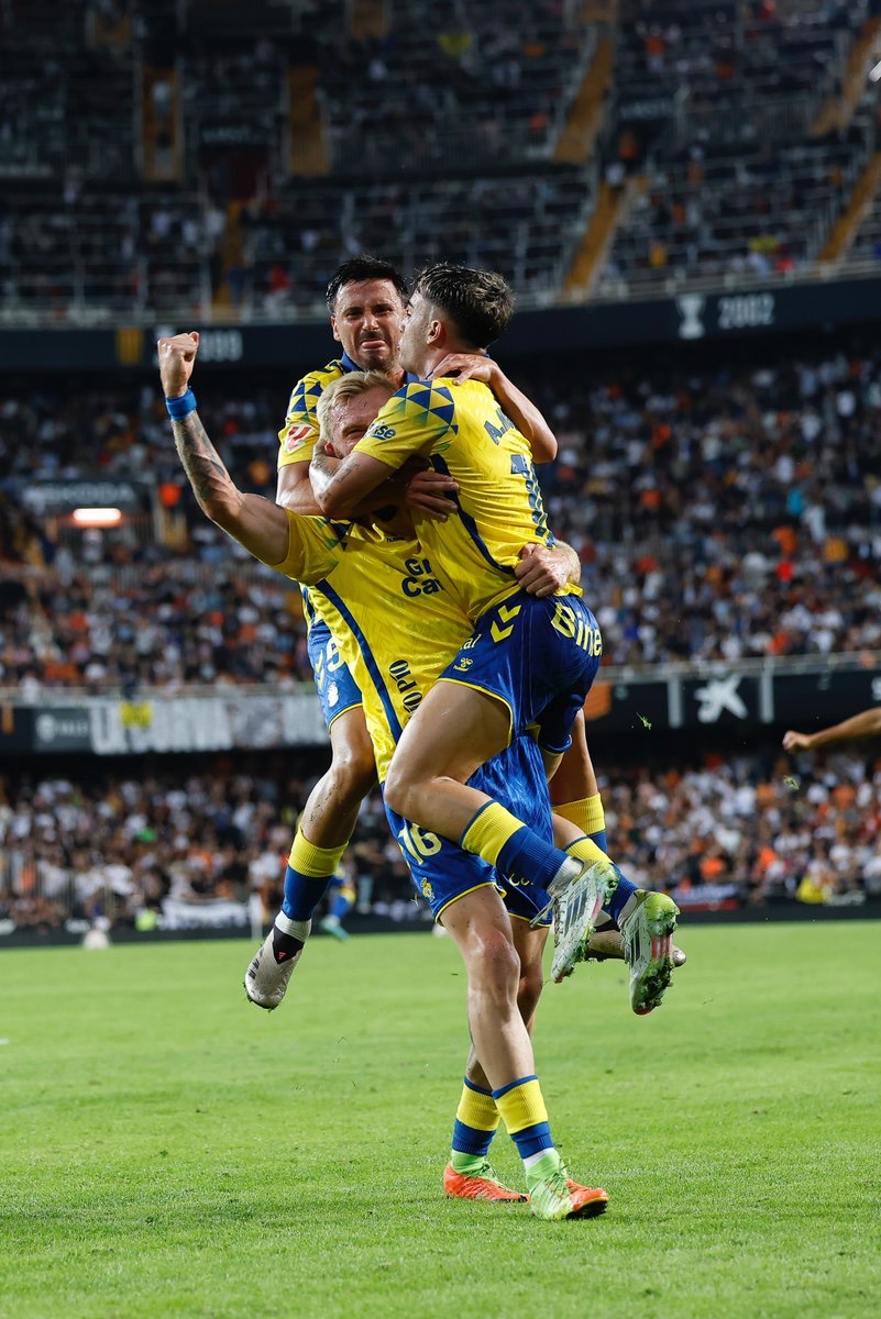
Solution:
{"label": "yellow jersey of the lifted player with his back turned", "polygon": [[414,522],[438,576],[472,621],[518,590],[513,570],[524,545],[555,543],[529,442],[479,381],[404,385],[355,452],[393,468],[419,455],[458,481],[458,517],[435,522],[414,512]]}

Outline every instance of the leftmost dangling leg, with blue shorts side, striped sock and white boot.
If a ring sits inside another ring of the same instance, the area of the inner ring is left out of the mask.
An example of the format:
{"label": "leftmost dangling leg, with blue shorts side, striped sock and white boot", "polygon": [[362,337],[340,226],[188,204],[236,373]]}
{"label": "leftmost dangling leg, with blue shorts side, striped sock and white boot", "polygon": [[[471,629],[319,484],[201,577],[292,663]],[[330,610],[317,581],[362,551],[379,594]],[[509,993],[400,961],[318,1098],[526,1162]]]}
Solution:
{"label": "leftmost dangling leg, with blue shorts side, striped sock and white boot", "polygon": [[309,633],[309,653],[328,725],[332,760],[309,794],[288,868],[281,911],[245,972],[245,993],[258,1008],[277,1008],[324,897],[348,847],[361,801],[376,783],[376,761],[364,723],[361,694],[320,620]]}

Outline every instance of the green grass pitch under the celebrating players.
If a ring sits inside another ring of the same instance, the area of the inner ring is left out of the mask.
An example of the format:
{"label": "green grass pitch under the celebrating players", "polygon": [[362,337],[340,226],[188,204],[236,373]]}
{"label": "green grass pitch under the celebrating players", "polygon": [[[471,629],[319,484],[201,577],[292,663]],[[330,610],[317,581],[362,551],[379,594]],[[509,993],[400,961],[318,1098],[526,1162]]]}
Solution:
{"label": "green grass pitch under the celebrating players", "polygon": [[554,1133],[612,1198],[571,1223],[442,1196],[450,940],[318,939],[276,1013],[247,940],[5,951],[0,1316],[874,1316],[880,933],[686,925],[646,1018],[620,963],[549,985]]}

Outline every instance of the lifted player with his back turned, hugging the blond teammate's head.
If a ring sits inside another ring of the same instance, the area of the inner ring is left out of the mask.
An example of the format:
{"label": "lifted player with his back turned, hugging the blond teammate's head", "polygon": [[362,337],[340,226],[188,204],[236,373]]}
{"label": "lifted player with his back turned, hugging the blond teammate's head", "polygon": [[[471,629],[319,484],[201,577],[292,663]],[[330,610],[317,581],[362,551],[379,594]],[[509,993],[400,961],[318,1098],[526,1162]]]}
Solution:
{"label": "lifted player with his back turned, hugging the blond teammate's head", "polygon": [[[446,265],[423,270],[401,340],[402,365],[421,379],[389,400],[348,458],[314,455],[313,488],[327,516],[346,517],[410,459],[427,459],[455,480],[456,516],[440,524],[414,510],[414,521],[473,632],[404,731],[386,802],[421,828],[502,872],[522,872],[558,897],[584,884],[590,867],[468,781],[535,723],[553,773],[599,667],[600,632],[578,588],[546,598],[521,590],[514,565],[524,542],[555,543],[529,445],[481,381],[456,386],[435,375],[451,353],[484,352],[512,310],[501,276]],[[648,893],[633,914],[637,942],[649,950],[641,1006],[650,1010],[670,981],[678,909],[666,894]]]}

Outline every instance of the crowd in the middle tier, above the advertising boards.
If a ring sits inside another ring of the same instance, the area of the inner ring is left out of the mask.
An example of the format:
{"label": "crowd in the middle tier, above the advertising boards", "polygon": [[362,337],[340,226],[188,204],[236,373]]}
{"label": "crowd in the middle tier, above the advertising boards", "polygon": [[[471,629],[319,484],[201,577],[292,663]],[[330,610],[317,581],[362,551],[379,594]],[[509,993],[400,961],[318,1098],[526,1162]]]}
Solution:
{"label": "crowd in the middle tier, above the advertising boards", "polygon": [[[546,504],[582,557],[605,663],[880,648],[876,350],[652,372],[562,357],[512,375],[559,438]],[[284,396],[203,389],[231,471],[269,497]],[[189,534],[75,533],[17,497],[83,475],[149,480]],[[5,686],[309,679],[297,592],[191,506],[152,389],[0,402],[0,570]]]}

